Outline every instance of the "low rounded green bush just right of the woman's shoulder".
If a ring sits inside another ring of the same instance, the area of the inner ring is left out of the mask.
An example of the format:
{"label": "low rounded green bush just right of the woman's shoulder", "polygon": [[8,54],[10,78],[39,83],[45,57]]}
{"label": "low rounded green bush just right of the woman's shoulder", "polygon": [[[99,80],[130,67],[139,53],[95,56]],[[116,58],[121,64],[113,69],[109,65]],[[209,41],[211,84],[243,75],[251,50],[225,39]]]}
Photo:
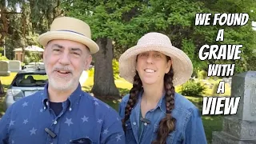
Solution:
{"label": "low rounded green bush just right of the woman's shoulder", "polygon": [[194,82],[192,80],[184,83],[182,85],[181,94],[185,96],[202,96],[206,90],[205,86],[202,86],[199,82]]}

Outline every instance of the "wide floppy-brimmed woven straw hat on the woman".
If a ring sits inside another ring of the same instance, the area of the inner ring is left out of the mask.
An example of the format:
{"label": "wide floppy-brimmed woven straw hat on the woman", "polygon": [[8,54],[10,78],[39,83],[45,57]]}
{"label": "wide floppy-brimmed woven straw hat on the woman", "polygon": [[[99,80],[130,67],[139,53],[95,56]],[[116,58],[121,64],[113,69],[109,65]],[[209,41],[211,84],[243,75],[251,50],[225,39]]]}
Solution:
{"label": "wide floppy-brimmed woven straw hat on the woman", "polygon": [[151,32],[138,40],[136,46],[126,50],[119,58],[119,72],[122,78],[133,83],[136,74],[136,58],[146,51],[158,51],[171,58],[174,70],[174,86],[182,85],[191,78],[193,65],[190,58],[182,51],[172,46],[170,38],[164,34]]}

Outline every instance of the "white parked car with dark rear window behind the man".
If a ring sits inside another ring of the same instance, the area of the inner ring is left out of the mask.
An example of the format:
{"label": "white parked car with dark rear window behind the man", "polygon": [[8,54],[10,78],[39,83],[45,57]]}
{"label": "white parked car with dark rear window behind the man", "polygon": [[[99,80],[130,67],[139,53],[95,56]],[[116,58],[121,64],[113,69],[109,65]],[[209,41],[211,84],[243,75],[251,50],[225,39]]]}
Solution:
{"label": "white parked car with dark rear window behind the man", "polygon": [[44,66],[26,66],[24,70],[18,72],[6,91],[4,109],[7,110],[21,98],[43,90],[47,81],[48,77]]}

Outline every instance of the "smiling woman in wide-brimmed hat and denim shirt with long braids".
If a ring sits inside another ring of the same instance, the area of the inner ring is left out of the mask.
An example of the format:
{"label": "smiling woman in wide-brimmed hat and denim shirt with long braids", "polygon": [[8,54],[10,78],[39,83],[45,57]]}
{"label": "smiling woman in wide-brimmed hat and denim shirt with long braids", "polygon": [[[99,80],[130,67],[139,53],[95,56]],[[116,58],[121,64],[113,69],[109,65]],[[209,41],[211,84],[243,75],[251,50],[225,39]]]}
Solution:
{"label": "smiling woman in wide-brimmed hat and denim shirt with long braids", "polygon": [[121,55],[119,69],[133,83],[119,107],[126,143],[207,143],[198,109],[174,90],[190,78],[192,63],[166,35],[144,35]]}

